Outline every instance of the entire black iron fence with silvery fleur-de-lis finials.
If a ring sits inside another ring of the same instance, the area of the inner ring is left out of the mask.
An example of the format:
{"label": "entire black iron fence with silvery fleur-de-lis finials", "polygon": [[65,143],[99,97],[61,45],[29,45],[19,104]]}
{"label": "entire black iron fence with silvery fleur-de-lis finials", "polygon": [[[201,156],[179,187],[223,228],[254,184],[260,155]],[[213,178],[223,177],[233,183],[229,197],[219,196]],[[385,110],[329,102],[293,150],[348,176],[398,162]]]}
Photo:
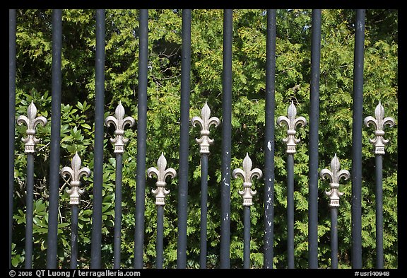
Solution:
{"label": "entire black iron fence with silvery fleur-de-lis finials", "polygon": [[[321,10],[312,11],[312,50],[310,81],[310,111],[309,121],[305,117],[297,117],[297,109],[290,103],[287,115],[281,115],[275,120],[275,75],[276,75],[276,10],[267,11],[267,41],[266,41],[266,118],[264,139],[264,172],[259,168],[252,168],[252,160],[246,154],[242,169],[231,169],[231,115],[232,115],[232,10],[225,10],[223,17],[223,93],[222,93],[222,121],[218,117],[211,117],[211,109],[205,103],[201,110],[201,117],[189,115],[190,92],[190,64],[191,64],[191,11],[182,11],[182,76],[181,76],[181,105],[180,105],[180,133],[179,133],[179,166],[178,170],[167,168],[167,161],[163,154],[158,158],[157,166],[146,170],[146,124],[147,124],[147,86],[148,86],[148,10],[141,10],[139,17],[139,61],[138,61],[138,115],[137,115],[137,174],[136,174],[136,213],[134,233],[134,267],[143,267],[143,241],[145,221],[145,192],[146,173],[150,178],[156,178],[156,188],[153,190],[157,207],[157,244],[156,267],[163,267],[163,216],[165,196],[170,192],[166,186],[166,178],[178,176],[178,227],[177,227],[177,268],[187,267],[187,204],[188,204],[188,168],[189,168],[189,131],[191,126],[200,127],[201,137],[196,139],[200,145],[201,154],[201,231],[200,231],[200,267],[206,268],[207,255],[207,202],[208,202],[208,159],[209,146],[213,144],[210,129],[221,127],[222,134],[222,165],[220,183],[220,268],[230,267],[230,183],[231,176],[244,180],[242,195],[244,207],[244,268],[250,267],[250,207],[252,197],[261,194],[252,190],[252,178],[264,176],[264,268],[273,268],[273,200],[274,200],[274,141],[275,125],[282,128],[286,125],[287,137],[283,139],[287,145],[287,256],[288,268],[294,268],[294,156],[296,144],[300,138],[296,137],[296,128],[309,124],[309,222],[308,248],[309,268],[318,267],[318,180],[329,178],[329,195],[331,209],[331,267],[338,267],[338,207],[342,192],[338,186],[341,178],[352,178],[352,267],[362,267],[362,238],[361,238],[361,180],[362,180],[362,91],[363,91],[363,62],[365,39],[365,10],[356,11],[355,21],[355,59],[353,76],[353,145],[352,169],[340,170],[338,157],[334,156],[330,170],[318,171],[319,166],[319,60],[321,47]],[[96,46],[95,46],[95,156],[93,169],[81,165],[81,158],[75,154],[71,160],[71,167],[61,168],[59,162],[60,128],[61,128],[61,10],[52,13],[52,117],[50,169],[49,169],[49,226],[47,235],[47,268],[57,267],[57,226],[59,206],[59,175],[70,177],[71,214],[71,268],[77,267],[78,258],[78,210],[81,189],[81,176],[90,175],[93,171],[93,216],[91,236],[91,268],[100,268],[101,262],[101,229],[102,229],[102,187],[103,187],[103,138],[105,125],[114,125],[115,137],[110,139],[114,145],[116,158],[116,187],[114,208],[114,268],[120,267],[120,236],[122,225],[122,154],[126,143],[124,137],[126,126],[135,124],[132,117],[124,117],[122,103],[118,103],[114,116],[104,118],[105,95],[105,11],[96,11]],[[28,106],[27,116],[20,115],[16,120],[16,11],[9,11],[9,267],[11,267],[11,244],[13,242],[13,159],[15,123],[26,124],[25,154],[27,155],[27,183],[26,183],[26,233],[25,233],[25,268],[33,265],[33,166],[35,158],[35,137],[37,124],[48,124],[47,119],[37,114],[35,103]],[[382,220],[382,155],[384,145],[384,126],[394,125],[391,117],[384,117],[381,103],[374,112],[375,117],[366,117],[365,125],[372,124],[375,128],[374,139],[370,139],[375,147],[376,157],[376,212],[377,212],[377,268],[383,267],[383,220]],[[173,166],[175,167],[175,166]],[[255,166],[255,167],[260,167]],[[232,170],[232,171],[231,171]]]}

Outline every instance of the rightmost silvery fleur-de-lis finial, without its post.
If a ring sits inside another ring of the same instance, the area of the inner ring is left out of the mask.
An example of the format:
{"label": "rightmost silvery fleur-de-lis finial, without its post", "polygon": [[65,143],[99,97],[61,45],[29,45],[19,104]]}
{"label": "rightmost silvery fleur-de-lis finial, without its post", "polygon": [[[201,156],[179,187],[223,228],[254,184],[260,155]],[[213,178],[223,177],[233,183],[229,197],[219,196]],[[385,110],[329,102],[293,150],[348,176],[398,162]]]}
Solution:
{"label": "rightmost silvery fleur-de-lis finial, without its post", "polygon": [[393,127],[395,122],[392,117],[384,117],[384,108],[382,103],[376,106],[374,110],[374,116],[365,117],[365,125],[369,127],[370,124],[374,126],[376,130],[374,130],[374,139],[369,139],[370,143],[374,146],[374,154],[384,154],[384,145],[389,143],[389,140],[384,139],[384,126],[389,124],[390,127]]}

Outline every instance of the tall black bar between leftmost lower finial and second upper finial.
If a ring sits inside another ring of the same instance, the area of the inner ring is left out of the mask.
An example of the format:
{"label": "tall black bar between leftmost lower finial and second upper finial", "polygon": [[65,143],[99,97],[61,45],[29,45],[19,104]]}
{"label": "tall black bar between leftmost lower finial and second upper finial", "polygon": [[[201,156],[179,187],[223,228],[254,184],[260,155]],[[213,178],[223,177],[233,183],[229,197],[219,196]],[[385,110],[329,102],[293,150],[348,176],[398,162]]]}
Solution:
{"label": "tall black bar between leftmost lower finial and second upper finial", "polygon": [[102,245],[103,139],[105,133],[105,10],[102,9],[96,11],[95,76],[95,157],[90,267],[100,268]]}

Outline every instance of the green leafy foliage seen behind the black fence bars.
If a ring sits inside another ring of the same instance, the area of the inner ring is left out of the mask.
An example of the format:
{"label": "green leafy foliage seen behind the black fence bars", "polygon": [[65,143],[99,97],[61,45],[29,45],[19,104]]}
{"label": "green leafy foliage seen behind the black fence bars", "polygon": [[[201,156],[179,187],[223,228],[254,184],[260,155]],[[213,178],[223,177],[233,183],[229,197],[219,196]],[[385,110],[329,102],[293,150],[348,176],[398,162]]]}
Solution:
{"label": "green leafy foliage seen behind the black fence bars", "polygon": [[[93,170],[95,115],[95,11],[64,10],[62,38],[61,161],[70,166],[78,151],[82,165]],[[319,170],[329,168],[334,154],[341,168],[352,168],[353,47],[355,12],[322,11]],[[146,166],[156,166],[163,151],[167,166],[178,167],[179,105],[181,75],[181,10],[149,10],[148,33],[148,112]],[[383,156],[384,267],[397,262],[397,122],[398,122],[398,42],[397,11],[367,10],[363,86],[363,117],[374,115],[379,100],[386,115],[394,117],[396,127],[386,127],[389,139]],[[26,115],[31,100],[38,113],[51,119],[52,11],[17,12],[16,116]],[[264,168],[266,12],[233,11],[232,46],[232,165],[241,168],[249,153],[253,166]],[[309,120],[309,82],[311,49],[311,11],[278,10],[276,39],[276,117],[287,114],[291,100],[297,115]],[[138,11],[107,10],[105,42],[105,117],[113,115],[122,101],[126,115],[137,119],[138,91]],[[200,115],[205,101],[211,115],[222,117],[223,11],[194,10],[191,23],[190,117]],[[15,192],[12,265],[23,267],[25,237],[26,156],[20,138],[26,127],[16,125]],[[34,267],[45,267],[48,226],[50,124],[37,127],[40,142],[35,153],[34,192]],[[308,257],[308,144],[309,125],[297,129],[301,143],[295,154],[295,267],[307,268]],[[374,267],[374,154],[369,139],[372,127],[362,130],[362,254],[363,267]],[[106,127],[104,139],[102,201],[102,267],[112,267],[114,228],[115,158],[113,127]],[[134,260],[134,213],[136,192],[136,127],[127,128],[129,139],[123,155],[122,178],[122,267],[131,268]],[[198,128],[189,134],[189,196],[187,266],[199,267],[201,166]],[[276,125],[274,185],[274,267],[285,268],[286,259],[286,175],[285,128]],[[220,262],[220,162],[221,128],[211,128],[208,167],[208,268]],[[58,266],[69,267],[71,209],[60,179]],[[178,179],[167,180],[164,218],[164,267],[177,266]],[[251,265],[263,267],[264,197],[263,180],[253,182],[251,207]],[[90,265],[90,236],[93,208],[93,173],[83,178],[78,223],[78,267]],[[330,215],[326,182],[319,182],[319,267],[329,268]],[[146,180],[145,267],[155,267],[157,212],[151,190],[155,179]],[[241,180],[232,180],[231,190],[231,267],[243,262],[243,207]],[[349,268],[351,253],[351,182],[341,184],[338,213],[338,266]]]}

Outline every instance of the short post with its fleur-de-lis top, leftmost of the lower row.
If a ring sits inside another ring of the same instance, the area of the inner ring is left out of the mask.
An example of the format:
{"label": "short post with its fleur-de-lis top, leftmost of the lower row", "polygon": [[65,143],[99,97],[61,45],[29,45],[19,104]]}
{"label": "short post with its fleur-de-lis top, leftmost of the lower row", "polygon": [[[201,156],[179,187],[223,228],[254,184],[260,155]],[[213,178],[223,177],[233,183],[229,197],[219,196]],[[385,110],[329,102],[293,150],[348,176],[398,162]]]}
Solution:
{"label": "short post with its fleur-de-lis top, leftmost of the lower row", "polygon": [[83,190],[79,187],[81,176],[88,177],[90,175],[89,168],[81,168],[81,162],[81,158],[76,153],[71,160],[71,167],[66,166],[61,169],[63,178],[66,175],[71,177],[69,182],[71,188],[66,189],[69,195],[69,204],[71,204],[71,269],[75,269],[78,265],[78,207],[83,194]]}

